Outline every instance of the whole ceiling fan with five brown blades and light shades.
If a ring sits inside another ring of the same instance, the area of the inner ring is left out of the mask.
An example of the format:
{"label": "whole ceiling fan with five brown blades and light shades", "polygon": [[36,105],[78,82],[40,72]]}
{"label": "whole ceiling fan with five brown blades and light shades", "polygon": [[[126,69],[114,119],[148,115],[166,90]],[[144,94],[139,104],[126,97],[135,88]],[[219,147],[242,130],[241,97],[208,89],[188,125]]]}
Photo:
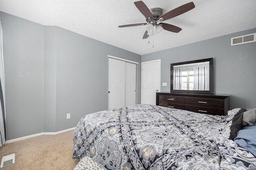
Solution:
{"label": "whole ceiling fan with five brown blades and light shades", "polygon": [[[146,4],[142,1],[134,2],[135,6],[138,8],[138,10],[145,16],[146,23],[134,23],[134,24],[128,24],[128,25],[119,25],[118,27],[132,27],[132,26],[139,26],[139,25],[148,25],[146,32],[144,33],[142,39],[148,38],[149,35],[154,34],[154,27],[156,27],[156,31],[160,33],[163,29],[167,31],[172,31],[174,33],[180,32],[182,29],[180,27],[177,27],[175,25],[171,25],[168,23],[162,23],[162,21],[168,20],[170,18],[174,18],[180,14],[183,14],[185,12],[188,12],[189,10],[192,10],[195,8],[195,5],[193,2],[189,2],[187,4],[184,4],[182,6],[179,6],[178,8],[175,8],[174,10],[171,10],[167,12],[166,14],[162,15],[162,9],[161,8],[152,8],[148,9]],[[160,22],[160,23],[158,23]]]}

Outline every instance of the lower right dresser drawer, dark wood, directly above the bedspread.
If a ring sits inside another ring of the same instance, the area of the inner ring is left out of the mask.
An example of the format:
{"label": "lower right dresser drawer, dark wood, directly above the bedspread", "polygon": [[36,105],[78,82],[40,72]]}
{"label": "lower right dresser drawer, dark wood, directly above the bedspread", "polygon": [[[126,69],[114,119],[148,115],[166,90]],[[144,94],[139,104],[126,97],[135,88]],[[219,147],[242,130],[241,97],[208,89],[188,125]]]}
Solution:
{"label": "lower right dresser drawer, dark wood, directly above the bedspread", "polygon": [[186,106],[186,110],[211,115],[224,115],[224,109],[200,106]]}

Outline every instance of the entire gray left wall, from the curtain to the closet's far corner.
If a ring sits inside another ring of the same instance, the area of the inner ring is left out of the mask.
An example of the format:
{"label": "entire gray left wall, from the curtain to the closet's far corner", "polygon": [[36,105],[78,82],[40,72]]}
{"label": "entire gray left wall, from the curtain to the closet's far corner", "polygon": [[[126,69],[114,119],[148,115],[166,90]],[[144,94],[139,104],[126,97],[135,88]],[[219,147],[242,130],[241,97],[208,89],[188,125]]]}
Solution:
{"label": "entire gray left wall, from the curtain to the closet's far corner", "polygon": [[4,12],[0,18],[7,140],[69,129],[84,115],[108,109],[108,55],[139,63],[140,103],[140,55]]}

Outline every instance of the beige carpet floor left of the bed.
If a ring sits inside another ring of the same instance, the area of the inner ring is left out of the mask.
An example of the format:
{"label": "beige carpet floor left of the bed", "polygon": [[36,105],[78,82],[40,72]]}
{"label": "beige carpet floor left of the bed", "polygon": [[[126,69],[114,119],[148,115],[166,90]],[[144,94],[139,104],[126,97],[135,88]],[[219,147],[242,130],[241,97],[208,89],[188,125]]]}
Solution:
{"label": "beige carpet floor left of the bed", "polygon": [[41,135],[0,147],[3,156],[15,153],[15,163],[0,170],[73,170],[79,159],[72,159],[74,130],[57,135]]}

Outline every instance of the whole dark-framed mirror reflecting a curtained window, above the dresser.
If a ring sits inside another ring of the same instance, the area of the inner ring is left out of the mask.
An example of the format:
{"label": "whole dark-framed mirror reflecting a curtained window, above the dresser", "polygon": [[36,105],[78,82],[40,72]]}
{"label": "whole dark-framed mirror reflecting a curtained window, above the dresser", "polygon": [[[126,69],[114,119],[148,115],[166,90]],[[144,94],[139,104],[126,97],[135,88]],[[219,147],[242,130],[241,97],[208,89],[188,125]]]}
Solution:
{"label": "whole dark-framed mirror reflecting a curtained window, above the dresser", "polygon": [[171,64],[171,92],[213,94],[213,58]]}

